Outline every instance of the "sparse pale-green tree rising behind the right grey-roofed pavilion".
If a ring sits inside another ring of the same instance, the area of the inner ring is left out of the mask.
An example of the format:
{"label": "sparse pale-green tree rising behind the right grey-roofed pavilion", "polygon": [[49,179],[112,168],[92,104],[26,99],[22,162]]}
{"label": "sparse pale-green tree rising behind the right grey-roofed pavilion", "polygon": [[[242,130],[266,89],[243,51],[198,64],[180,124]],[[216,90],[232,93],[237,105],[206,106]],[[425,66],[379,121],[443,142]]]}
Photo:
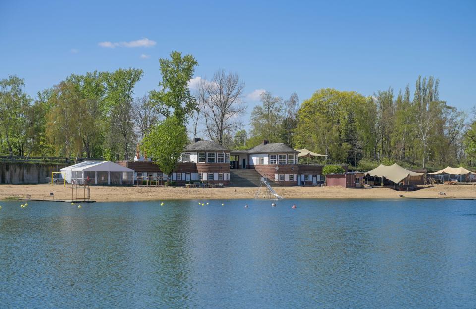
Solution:
{"label": "sparse pale-green tree rising behind the right grey-roofed pavilion", "polygon": [[261,94],[261,106],[251,112],[251,134],[270,142],[278,142],[279,125],[284,119],[283,99],[273,97],[271,92]]}

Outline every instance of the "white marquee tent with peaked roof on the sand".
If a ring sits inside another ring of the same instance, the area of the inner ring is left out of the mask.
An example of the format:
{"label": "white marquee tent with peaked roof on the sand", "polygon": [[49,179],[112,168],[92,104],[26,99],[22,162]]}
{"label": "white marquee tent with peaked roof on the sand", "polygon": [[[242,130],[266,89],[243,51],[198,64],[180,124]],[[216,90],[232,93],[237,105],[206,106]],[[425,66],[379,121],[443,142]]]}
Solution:
{"label": "white marquee tent with peaked roof on the sand", "polygon": [[134,170],[111,161],[83,161],[61,169],[68,183],[132,184]]}

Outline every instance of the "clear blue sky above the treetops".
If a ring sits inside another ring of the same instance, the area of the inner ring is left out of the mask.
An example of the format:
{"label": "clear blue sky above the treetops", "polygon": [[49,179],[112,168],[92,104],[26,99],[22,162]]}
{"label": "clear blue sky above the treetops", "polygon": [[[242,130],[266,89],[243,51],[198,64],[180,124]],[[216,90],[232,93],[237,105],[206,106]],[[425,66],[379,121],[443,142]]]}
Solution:
{"label": "clear blue sky above the treetops", "polygon": [[144,70],[142,96],[157,89],[158,58],[173,50],[195,56],[195,76],[238,73],[246,94],[371,95],[433,75],[448,104],[476,103],[474,0],[0,1],[0,78],[24,78],[32,96],[71,73],[121,67]]}

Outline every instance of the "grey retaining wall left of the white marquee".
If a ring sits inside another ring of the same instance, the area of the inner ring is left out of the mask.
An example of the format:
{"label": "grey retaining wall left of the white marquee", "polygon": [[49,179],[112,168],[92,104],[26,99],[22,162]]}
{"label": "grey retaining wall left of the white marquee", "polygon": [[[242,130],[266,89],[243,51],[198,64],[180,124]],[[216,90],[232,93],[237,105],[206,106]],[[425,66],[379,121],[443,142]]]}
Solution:
{"label": "grey retaining wall left of the white marquee", "polygon": [[68,164],[0,162],[0,184],[41,184]]}

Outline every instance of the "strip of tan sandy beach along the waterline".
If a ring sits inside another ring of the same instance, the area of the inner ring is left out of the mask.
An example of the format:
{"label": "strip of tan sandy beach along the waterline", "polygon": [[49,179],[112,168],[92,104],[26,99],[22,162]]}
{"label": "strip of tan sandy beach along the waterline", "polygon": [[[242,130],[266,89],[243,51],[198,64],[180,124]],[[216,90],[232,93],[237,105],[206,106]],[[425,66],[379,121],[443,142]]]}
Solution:
{"label": "strip of tan sandy beach along the waterline", "polygon": [[[236,199],[253,198],[255,187],[226,187],[214,189],[183,188],[183,187],[115,187],[91,186],[91,199],[95,201],[143,201],[165,199]],[[25,198],[30,194],[32,199],[43,199],[43,193],[55,192],[55,199],[71,199],[71,186],[66,185],[0,185],[0,200],[8,198]],[[397,192],[389,188],[350,189],[343,187],[283,187],[276,192],[284,198],[341,198],[360,199],[378,198],[392,199],[404,197],[418,198],[474,198],[475,185],[435,185],[415,192]],[[445,192],[441,196],[438,192]],[[82,191],[78,190],[78,196]]]}

